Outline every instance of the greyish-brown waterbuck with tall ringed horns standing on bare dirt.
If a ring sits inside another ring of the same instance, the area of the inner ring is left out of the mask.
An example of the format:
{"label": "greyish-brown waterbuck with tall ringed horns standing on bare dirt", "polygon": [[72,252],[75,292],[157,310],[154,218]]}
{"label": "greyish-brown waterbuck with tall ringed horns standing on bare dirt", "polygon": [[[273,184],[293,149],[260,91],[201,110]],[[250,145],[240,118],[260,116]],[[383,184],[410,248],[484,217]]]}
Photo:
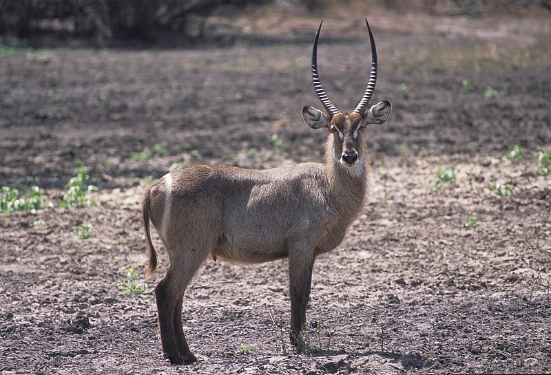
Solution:
{"label": "greyish-brown waterbuck with tall ringed horns standing on bare dirt", "polygon": [[364,129],[382,124],[391,113],[383,100],[367,109],[377,80],[375,39],[371,74],[355,109],[339,111],[318,74],[315,34],[311,69],[315,92],[325,111],[306,106],[302,118],[312,129],[325,129],[325,162],[304,162],[273,169],[242,169],[188,164],[171,171],[143,193],[147,236],[147,277],[157,267],[149,221],[169,257],[166,275],[155,288],[163,357],[172,364],[197,361],[182,327],[184,292],[209,255],[232,263],[254,264],[289,258],[290,340],[300,346],[306,321],[312,269],[318,255],[333,250],[362,212],[368,192],[369,161]]}

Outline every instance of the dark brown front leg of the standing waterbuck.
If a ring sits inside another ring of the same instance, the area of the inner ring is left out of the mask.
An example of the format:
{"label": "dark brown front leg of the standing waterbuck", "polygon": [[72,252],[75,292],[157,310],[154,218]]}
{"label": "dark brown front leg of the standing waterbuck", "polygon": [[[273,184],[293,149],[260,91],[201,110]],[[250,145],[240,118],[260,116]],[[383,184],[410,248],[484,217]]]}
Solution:
{"label": "dark brown front leg of the standing waterbuck", "polygon": [[304,253],[289,255],[289,294],[291,294],[290,336],[291,344],[300,352],[306,349],[301,332],[306,321],[306,306],[310,297],[313,266],[313,255],[305,256]]}

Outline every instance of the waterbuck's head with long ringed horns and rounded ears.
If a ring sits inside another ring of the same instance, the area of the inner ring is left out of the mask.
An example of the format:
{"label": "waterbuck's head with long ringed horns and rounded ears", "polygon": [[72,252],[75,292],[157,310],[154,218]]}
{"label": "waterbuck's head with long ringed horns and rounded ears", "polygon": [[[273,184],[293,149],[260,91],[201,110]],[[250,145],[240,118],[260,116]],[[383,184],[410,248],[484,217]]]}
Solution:
{"label": "waterbuck's head with long ringed horns and rounded ears", "polygon": [[328,149],[328,152],[331,153],[328,157],[333,158],[337,163],[340,162],[340,165],[348,169],[353,169],[364,160],[362,131],[367,125],[385,122],[391,114],[392,105],[388,100],[382,100],[368,108],[371,96],[373,96],[373,90],[375,90],[375,82],[377,81],[377,50],[367,19],[366,25],[371,41],[371,74],[364,96],[351,113],[343,113],[331,103],[331,100],[325,94],[318,74],[318,39],[322,24],[323,19],[320,22],[318,32],[315,34],[312,49],[312,78],[315,92],[318,94],[318,98],[322,102],[325,111],[306,106],[302,109],[302,118],[304,118],[306,125],[313,129],[324,128],[333,133],[332,150]]}

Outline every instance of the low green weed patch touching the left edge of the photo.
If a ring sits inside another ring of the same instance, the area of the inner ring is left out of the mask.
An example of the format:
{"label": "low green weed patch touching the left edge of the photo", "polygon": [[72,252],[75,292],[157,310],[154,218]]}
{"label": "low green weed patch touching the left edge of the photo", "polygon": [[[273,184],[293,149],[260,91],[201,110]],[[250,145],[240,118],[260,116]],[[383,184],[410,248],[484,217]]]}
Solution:
{"label": "low green weed patch touching the left edge of the photo", "polygon": [[43,200],[38,186],[31,186],[23,195],[17,189],[2,186],[0,189],[0,213],[28,211],[36,213],[44,208],[52,208],[52,202]]}

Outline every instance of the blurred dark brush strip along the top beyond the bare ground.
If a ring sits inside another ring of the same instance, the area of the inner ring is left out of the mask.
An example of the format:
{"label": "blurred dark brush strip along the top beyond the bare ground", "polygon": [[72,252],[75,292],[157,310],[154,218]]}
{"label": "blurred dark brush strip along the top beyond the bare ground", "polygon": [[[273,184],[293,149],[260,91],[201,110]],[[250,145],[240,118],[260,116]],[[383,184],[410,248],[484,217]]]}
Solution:
{"label": "blurred dark brush strip along the top beyond the bare ground", "polygon": [[[97,46],[114,41],[155,42],[167,34],[180,35],[182,43],[216,42],[215,35],[231,33],[227,25],[216,28],[207,19],[231,18],[251,7],[267,4],[316,12],[336,0],[1,0],[0,44],[37,46],[48,41],[80,40]],[[357,3],[357,1],[355,1]],[[362,1],[388,12],[424,12],[446,16],[478,17],[511,12],[528,6],[551,10],[551,0],[384,0]],[[226,29],[224,28],[226,27]]]}

